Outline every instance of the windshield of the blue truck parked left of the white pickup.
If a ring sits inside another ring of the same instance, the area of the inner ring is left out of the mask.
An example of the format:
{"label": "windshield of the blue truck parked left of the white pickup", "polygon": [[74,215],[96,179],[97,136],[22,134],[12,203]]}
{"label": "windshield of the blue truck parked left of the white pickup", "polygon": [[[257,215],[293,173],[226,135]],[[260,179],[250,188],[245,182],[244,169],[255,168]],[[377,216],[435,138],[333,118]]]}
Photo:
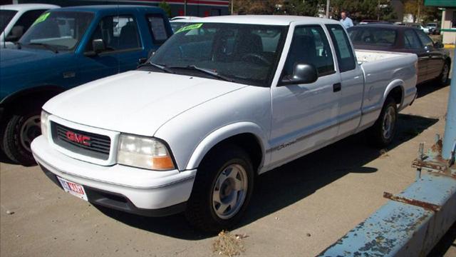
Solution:
{"label": "windshield of the blue truck parked left of the white pickup", "polygon": [[19,43],[23,46],[71,50],[78,44],[92,19],[93,14],[88,12],[49,11],[36,19]]}

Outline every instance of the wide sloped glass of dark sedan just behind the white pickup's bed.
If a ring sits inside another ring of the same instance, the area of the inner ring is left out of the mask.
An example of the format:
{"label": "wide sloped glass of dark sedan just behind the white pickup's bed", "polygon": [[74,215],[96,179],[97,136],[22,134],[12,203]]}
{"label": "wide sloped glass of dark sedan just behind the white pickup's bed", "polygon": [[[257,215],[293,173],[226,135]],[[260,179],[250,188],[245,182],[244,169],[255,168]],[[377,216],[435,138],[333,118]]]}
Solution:
{"label": "wide sloped glass of dark sedan just behind the white pickup's bed", "polygon": [[397,32],[395,29],[378,27],[353,27],[348,29],[348,35],[353,44],[393,46]]}

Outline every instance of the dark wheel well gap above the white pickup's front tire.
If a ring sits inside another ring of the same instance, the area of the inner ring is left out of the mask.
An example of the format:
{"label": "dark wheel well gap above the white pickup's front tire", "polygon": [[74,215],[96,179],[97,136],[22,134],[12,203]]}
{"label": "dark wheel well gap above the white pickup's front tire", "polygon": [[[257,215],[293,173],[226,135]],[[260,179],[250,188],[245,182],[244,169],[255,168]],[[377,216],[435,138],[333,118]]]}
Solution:
{"label": "dark wheel well gap above the white pickup's front tire", "polygon": [[215,148],[223,147],[227,144],[234,144],[241,148],[243,148],[249,154],[250,159],[252,160],[252,165],[254,171],[258,171],[259,166],[261,165],[261,161],[263,159],[263,151],[261,149],[261,145],[257,136],[252,133],[241,133],[235,136],[231,136],[229,138],[220,141],[215,146],[213,146],[207,153],[210,153]]}

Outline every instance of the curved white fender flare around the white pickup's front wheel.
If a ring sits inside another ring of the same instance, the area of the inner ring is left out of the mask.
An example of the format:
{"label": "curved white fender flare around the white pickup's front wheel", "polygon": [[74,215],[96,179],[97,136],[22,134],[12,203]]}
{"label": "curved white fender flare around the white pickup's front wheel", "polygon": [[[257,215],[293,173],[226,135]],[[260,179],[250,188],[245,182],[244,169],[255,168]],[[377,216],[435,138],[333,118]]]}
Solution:
{"label": "curved white fender flare around the white pickup's front wheel", "polygon": [[242,133],[252,133],[254,136],[257,137],[257,140],[261,146],[262,152],[262,160],[260,163],[260,167],[263,166],[264,159],[265,159],[265,146],[267,143],[266,135],[264,130],[261,129],[260,126],[254,124],[251,121],[241,121],[234,124],[229,124],[227,126],[223,126],[219,129],[216,129],[209,133],[202,141],[199,142],[198,146],[190,156],[189,161],[186,165],[186,170],[191,170],[197,168],[199,163],[202,161],[202,158],[209,152],[212,147],[214,147],[217,143],[223,141],[232,136],[236,136]]}

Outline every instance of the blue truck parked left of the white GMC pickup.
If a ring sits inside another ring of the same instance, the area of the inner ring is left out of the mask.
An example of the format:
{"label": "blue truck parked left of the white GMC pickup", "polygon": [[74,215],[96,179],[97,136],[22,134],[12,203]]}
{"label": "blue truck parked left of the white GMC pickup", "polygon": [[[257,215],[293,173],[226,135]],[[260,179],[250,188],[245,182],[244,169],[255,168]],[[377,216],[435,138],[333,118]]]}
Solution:
{"label": "blue truck parked left of the white GMC pickup", "polygon": [[46,11],[16,49],[0,50],[1,149],[11,161],[33,165],[30,143],[41,133],[41,106],[48,99],[135,69],[171,35],[165,13],[151,6]]}

